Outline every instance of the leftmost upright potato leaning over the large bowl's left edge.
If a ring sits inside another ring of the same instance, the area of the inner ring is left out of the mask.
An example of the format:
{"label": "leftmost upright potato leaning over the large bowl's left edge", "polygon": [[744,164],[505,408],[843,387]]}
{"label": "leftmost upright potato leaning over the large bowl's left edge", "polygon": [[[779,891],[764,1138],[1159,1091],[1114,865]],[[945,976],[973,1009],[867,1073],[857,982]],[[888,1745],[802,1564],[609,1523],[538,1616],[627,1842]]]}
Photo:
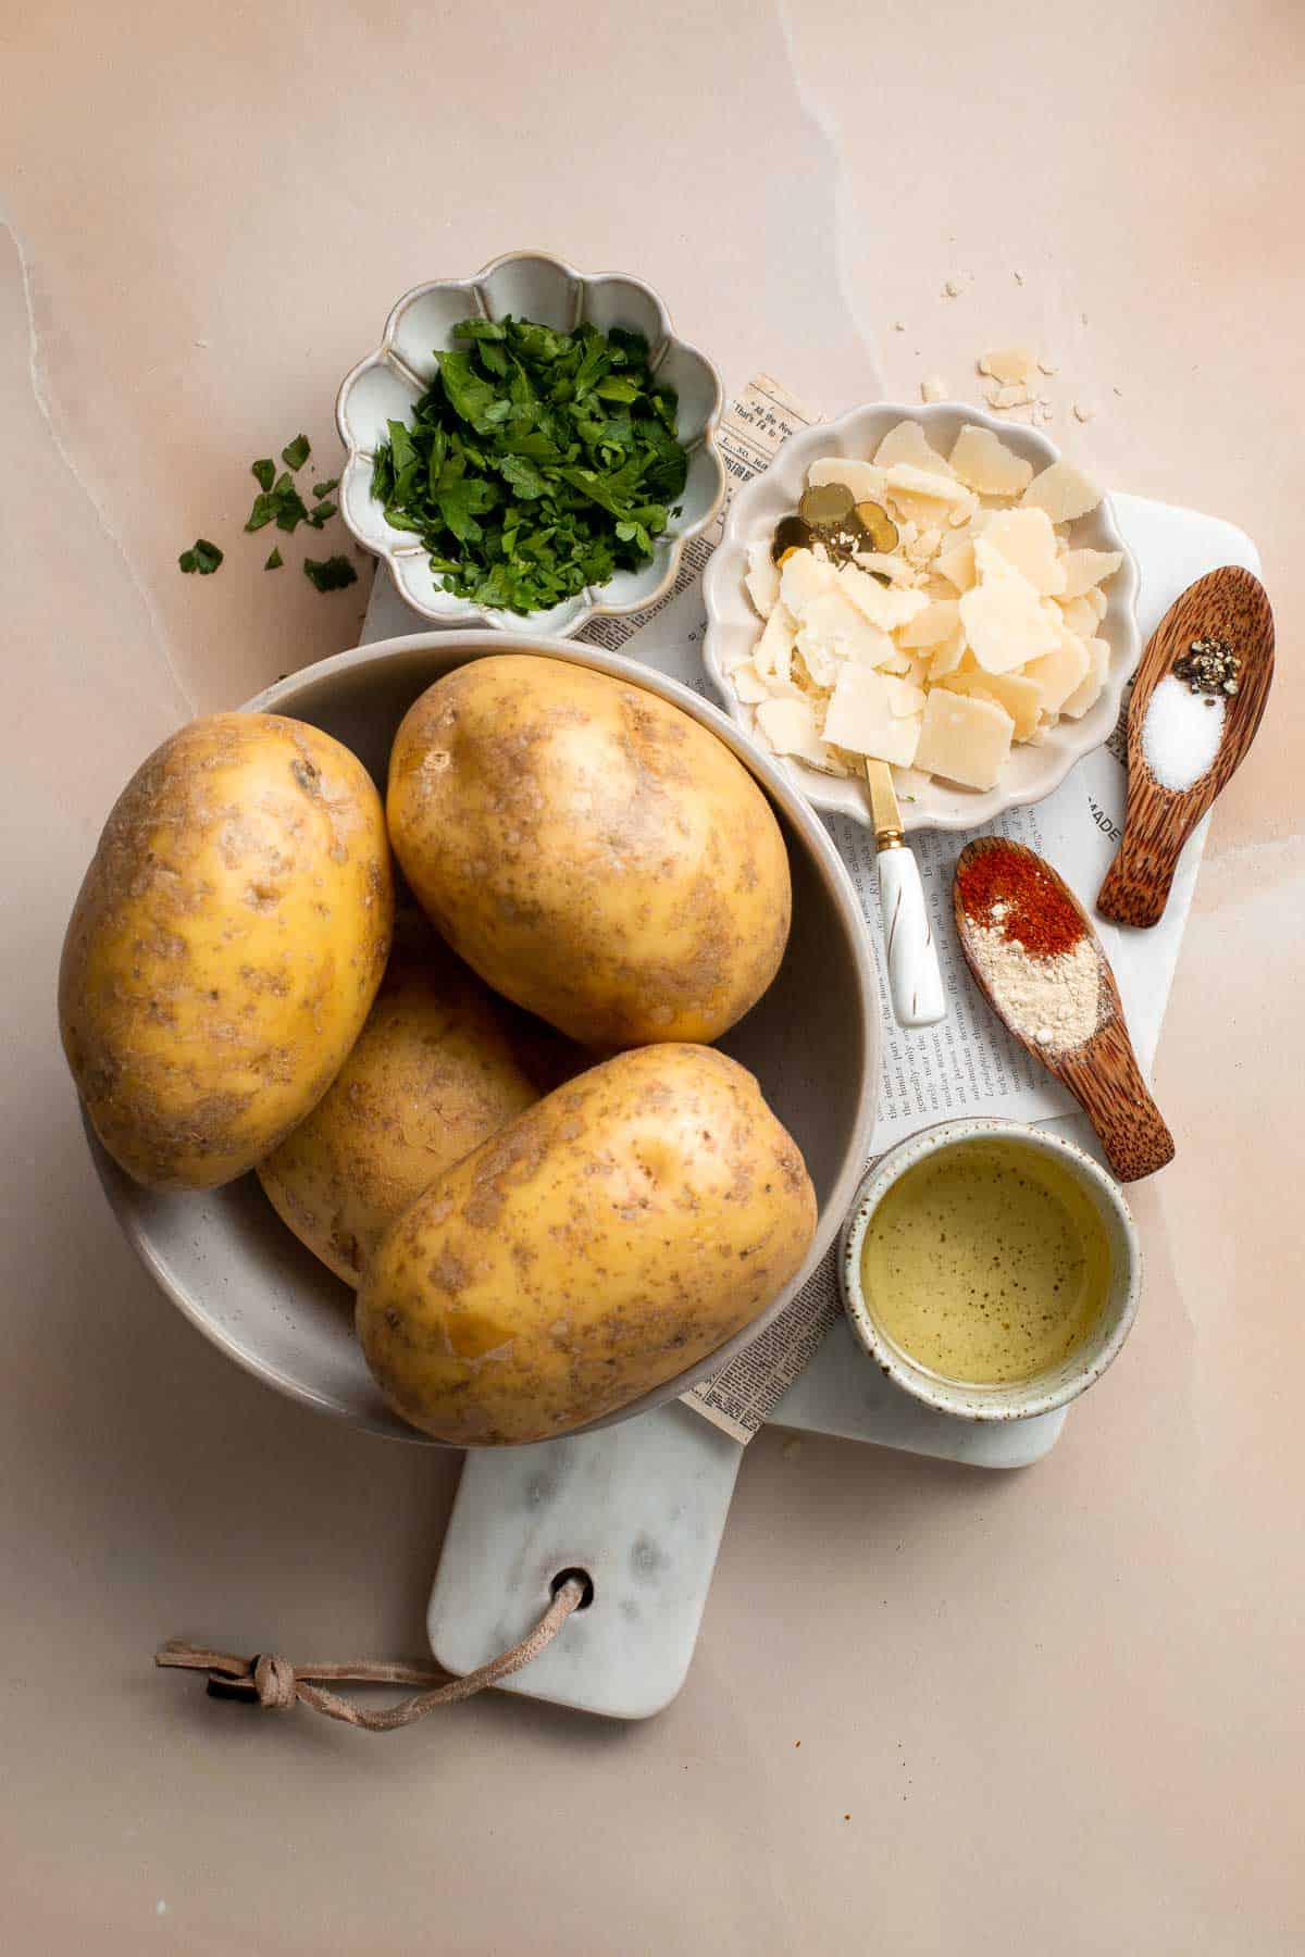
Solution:
{"label": "leftmost upright potato leaning over the large bowl's left edge", "polygon": [[372,777],[278,714],[213,714],[131,777],[59,973],[72,1078],[137,1182],[205,1190],[335,1080],[385,969],[393,873]]}

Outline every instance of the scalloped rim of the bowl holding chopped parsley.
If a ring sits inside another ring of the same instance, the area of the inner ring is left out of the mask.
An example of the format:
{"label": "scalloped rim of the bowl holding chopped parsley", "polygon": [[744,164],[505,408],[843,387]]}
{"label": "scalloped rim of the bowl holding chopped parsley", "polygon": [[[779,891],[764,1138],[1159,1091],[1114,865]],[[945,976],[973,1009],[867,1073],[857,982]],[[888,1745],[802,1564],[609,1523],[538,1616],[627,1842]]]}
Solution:
{"label": "scalloped rim of the bowl holding chopped parsley", "polygon": [[[393,372],[405,376],[405,380],[415,387],[425,386],[421,378],[413,372],[413,368],[407,364],[407,360],[395,348],[395,335],[399,333],[403,315],[409,311],[409,307],[415,305],[419,299],[425,299],[427,294],[432,292],[466,290],[472,296],[472,303],[475,305],[475,309],[479,309],[485,317],[491,317],[483,290],[485,282],[493,278],[495,272],[501,272],[507,266],[522,262],[550,266],[569,282],[571,329],[575,329],[585,317],[585,296],[593,288],[601,288],[605,284],[620,284],[632,288],[634,292],[644,294],[650,307],[657,315],[657,337],[655,342],[650,346],[652,370],[657,372],[657,368],[665,362],[667,354],[673,348],[681,348],[683,352],[693,354],[693,358],[698,360],[702,370],[710,376],[712,382],[710,407],[702,419],[702,425],[695,427],[693,434],[683,436],[683,442],[691,456],[702,450],[712,468],[714,489],[710,493],[708,505],[691,523],[683,524],[683,528],[667,530],[663,538],[657,540],[669,546],[665,558],[665,573],[657,579],[655,585],[640,591],[628,603],[620,605],[610,603],[608,599],[603,597],[607,585],[589,585],[581,593],[579,609],[571,609],[575,601],[567,601],[565,607],[556,607],[552,613],[528,613],[520,618],[515,616],[513,613],[503,613],[487,605],[470,605],[456,601],[432,609],[423,603],[419,593],[415,593],[409,583],[397,577],[395,560],[403,554],[413,552],[415,546],[411,538],[407,542],[395,540],[393,546],[378,546],[378,542],[370,536],[364,536],[364,532],[354,523],[350,515],[348,495],[340,495],[340,515],[350,532],[354,534],[356,542],[364,550],[372,552],[372,556],[378,556],[383,564],[389,566],[391,577],[395,577],[395,583],[399,583],[399,591],[403,593],[403,601],[411,605],[413,611],[419,611],[425,618],[430,618],[440,628],[462,630],[462,628],[489,626],[497,632],[542,630],[556,634],[560,638],[569,638],[573,632],[579,632],[585,624],[589,624],[591,618],[622,616],[626,613],[646,611],[646,607],[655,605],[657,599],[665,597],[665,593],[675,583],[675,577],[679,575],[685,544],[691,538],[700,536],[702,530],[706,530],[706,526],[714,521],[716,513],[720,511],[726,493],[726,472],[716,444],[716,431],[720,427],[720,415],[724,409],[724,389],[720,386],[720,374],[716,372],[714,364],[708,360],[708,356],[702,352],[700,346],[691,346],[689,341],[681,341],[677,337],[665,301],[642,278],[634,278],[630,272],[577,272],[575,266],[565,262],[565,258],[556,258],[552,252],[546,250],[509,250],[501,252],[497,258],[491,258],[489,264],[483,264],[479,268],[479,272],[472,272],[466,278],[432,278],[421,286],[413,286],[411,292],[405,292],[403,297],[395,299],[395,303],[389,307],[389,317],[385,319],[385,333],[382,337],[380,346],[376,346],[370,354],[366,354],[348,370],[337,391],[335,425],[338,429],[340,442],[344,444],[346,450],[340,478],[342,479],[348,478],[360,466],[366,468],[368,472],[372,468],[370,450],[362,448],[354,438],[348,415],[348,397],[358,380],[372,368],[380,366],[380,368],[391,368]],[[558,616],[562,611],[565,611],[565,618]]]}

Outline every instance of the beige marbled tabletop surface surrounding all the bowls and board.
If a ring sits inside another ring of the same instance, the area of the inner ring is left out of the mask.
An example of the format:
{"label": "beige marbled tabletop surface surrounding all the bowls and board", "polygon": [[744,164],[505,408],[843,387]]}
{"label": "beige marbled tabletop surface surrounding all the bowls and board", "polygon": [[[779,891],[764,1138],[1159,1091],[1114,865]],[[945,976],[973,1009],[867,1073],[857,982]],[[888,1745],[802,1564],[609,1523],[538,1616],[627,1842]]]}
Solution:
{"label": "beige marbled tabletop surface surrounding all the bowls and board", "polygon": [[[6,1951],[1303,1947],[1303,84],[1299,0],[2,0]],[[260,1724],[155,1642],[421,1652],[456,1460],[282,1403],[137,1270],[57,945],[143,753],[354,640],[364,587],[239,534],[248,458],[333,458],[389,301],[524,243],[826,411],[1031,339],[1057,438],[1258,540],[1280,681],[1164,1029],[1143,1317],[1057,1452],[763,1436],[646,1726]]]}

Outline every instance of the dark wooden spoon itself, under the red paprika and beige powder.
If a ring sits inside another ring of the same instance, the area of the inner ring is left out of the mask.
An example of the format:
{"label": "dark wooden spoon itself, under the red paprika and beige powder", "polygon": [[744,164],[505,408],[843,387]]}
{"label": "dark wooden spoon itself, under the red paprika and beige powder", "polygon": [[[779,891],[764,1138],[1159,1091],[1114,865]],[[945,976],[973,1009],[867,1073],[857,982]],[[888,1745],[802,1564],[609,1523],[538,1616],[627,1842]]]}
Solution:
{"label": "dark wooden spoon itself, under the red paprika and beige powder", "polygon": [[[1027,857],[1027,861],[1035,865],[1043,877],[1047,877],[1058,894],[1064,896],[1078,912],[1084,935],[1096,951],[1100,967],[1100,1018],[1096,1031],[1080,1047],[1074,1047],[1068,1053],[1051,1053],[1047,1047],[1039,1045],[1037,1039],[1025,1039],[1019,1027],[1006,1016],[1002,1000],[996,996],[978,965],[974,945],[976,920],[970,918],[961,900],[961,875],[980,851],[996,847],[1017,851],[1021,857]],[[1041,1061],[1049,1074],[1055,1074],[1055,1078],[1070,1090],[1098,1131],[1102,1147],[1105,1149],[1105,1159],[1119,1180],[1139,1182],[1143,1176],[1154,1176],[1156,1168],[1164,1168],[1166,1162],[1172,1162],[1174,1137],[1164,1125],[1164,1115],[1150,1098],[1150,1090],[1143,1080],[1143,1070],[1137,1065],[1133,1041],[1129,1039],[1129,1029],[1123,1020],[1119,986],[1113,971],[1109,969],[1109,959],[1102,951],[1102,941],[1092,930],[1092,918],[1082,908],[1064,879],[1055,873],[1045,857],[1039,857],[1033,849],[1025,849],[1023,843],[1006,842],[1004,836],[976,836],[972,843],[965,845],[957,859],[957,873],[951,887],[951,906],[957,920],[961,949],[965,951],[965,961],[970,967],[974,984],[984,994],[1006,1031],[1019,1041],[1025,1053],[1031,1053],[1035,1061]]]}

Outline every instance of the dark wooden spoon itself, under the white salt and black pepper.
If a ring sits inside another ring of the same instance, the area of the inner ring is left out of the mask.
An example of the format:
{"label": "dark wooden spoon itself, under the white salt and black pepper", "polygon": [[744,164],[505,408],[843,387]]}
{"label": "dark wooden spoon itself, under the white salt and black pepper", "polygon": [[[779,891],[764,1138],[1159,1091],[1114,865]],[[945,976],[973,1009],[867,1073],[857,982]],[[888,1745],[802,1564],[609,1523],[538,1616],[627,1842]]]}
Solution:
{"label": "dark wooden spoon itself, under the white salt and black pepper", "polygon": [[[1166,789],[1143,751],[1150,695],[1193,638],[1223,638],[1242,667],[1237,693],[1225,697],[1223,738],[1213,763],[1190,789]],[[1225,564],[1188,585],[1156,626],[1143,654],[1129,701],[1129,800],[1123,838],[1105,873],[1096,908],[1115,924],[1158,924],[1168,904],[1178,853],[1215,796],[1246,757],[1264,716],[1274,677],[1274,613],[1268,591],[1238,564]]]}

